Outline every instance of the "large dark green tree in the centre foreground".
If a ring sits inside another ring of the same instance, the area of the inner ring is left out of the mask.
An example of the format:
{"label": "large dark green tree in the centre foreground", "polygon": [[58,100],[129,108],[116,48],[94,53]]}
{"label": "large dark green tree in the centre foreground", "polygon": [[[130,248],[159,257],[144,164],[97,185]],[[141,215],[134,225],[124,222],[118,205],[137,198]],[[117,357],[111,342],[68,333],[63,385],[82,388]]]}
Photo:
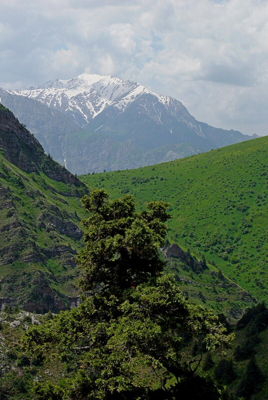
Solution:
{"label": "large dark green tree in the centre foreground", "polygon": [[[188,302],[174,278],[162,273],[158,248],[167,231],[168,203],[152,201],[136,212],[132,196],[109,200],[103,190],[82,202],[91,213],[83,221],[85,247],[78,256],[87,295],[76,309],[29,329],[24,348],[46,357],[76,357],[79,368],[65,383],[64,399],[175,399],[197,379],[202,359],[185,359],[182,350],[194,338],[207,350],[225,348],[230,336],[216,316]],[[208,399],[221,399],[213,383],[202,382]]]}

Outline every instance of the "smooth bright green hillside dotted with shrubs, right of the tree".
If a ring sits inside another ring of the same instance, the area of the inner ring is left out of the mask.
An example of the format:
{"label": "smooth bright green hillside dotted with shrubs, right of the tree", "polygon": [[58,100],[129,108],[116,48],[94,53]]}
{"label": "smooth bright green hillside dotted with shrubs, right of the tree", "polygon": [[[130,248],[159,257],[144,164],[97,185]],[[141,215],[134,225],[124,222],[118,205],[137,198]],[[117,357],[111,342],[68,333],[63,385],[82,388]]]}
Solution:
{"label": "smooth bright green hillside dotted with shrubs, right of the tree", "polygon": [[268,300],[268,137],[136,170],[84,175],[112,198],[139,207],[170,203],[168,238],[219,266],[259,300]]}

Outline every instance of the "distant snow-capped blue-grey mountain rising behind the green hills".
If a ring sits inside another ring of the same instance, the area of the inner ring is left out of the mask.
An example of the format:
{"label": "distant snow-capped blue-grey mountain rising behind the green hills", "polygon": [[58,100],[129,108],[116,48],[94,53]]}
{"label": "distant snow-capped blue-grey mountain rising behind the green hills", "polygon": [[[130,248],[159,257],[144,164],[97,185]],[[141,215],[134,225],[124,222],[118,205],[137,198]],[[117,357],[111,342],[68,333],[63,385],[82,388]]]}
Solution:
{"label": "distant snow-capped blue-grey mountain rising behind the green hills", "polygon": [[114,76],[0,89],[0,101],[76,174],[137,168],[257,137],[199,122],[180,101]]}

